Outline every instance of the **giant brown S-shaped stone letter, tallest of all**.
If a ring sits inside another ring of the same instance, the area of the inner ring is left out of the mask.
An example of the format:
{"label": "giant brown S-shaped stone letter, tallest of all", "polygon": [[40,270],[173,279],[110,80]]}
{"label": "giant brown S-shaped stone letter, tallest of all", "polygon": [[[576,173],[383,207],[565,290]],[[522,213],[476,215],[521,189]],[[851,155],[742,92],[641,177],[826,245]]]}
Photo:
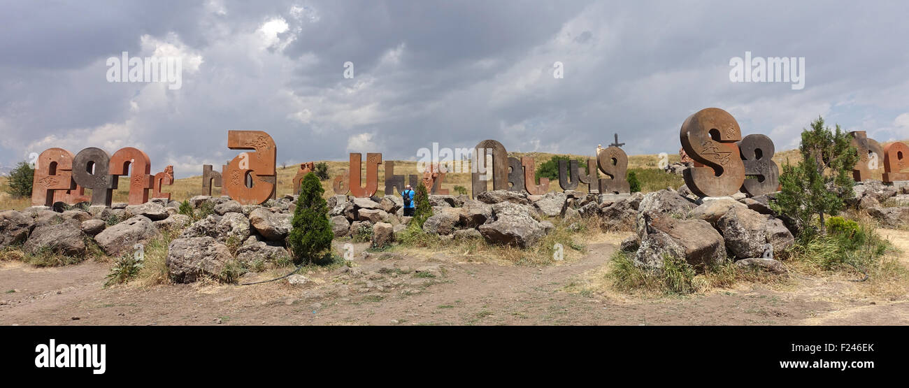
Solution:
{"label": "giant brown S-shaped stone letter, tallest of all", "polygon": [[684,182],[700,196],[726,196],[744,183],[744,164],[735,142],[742,130],[732,114],[706,108],[688,116],[679,133],[685,154],[704,164],[684,170]]}

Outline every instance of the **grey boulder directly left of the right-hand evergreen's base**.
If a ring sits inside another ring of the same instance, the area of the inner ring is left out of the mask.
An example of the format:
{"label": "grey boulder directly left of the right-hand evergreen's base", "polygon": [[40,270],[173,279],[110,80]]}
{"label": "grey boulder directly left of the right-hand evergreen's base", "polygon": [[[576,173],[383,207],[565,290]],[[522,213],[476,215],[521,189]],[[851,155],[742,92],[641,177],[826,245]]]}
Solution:
{"label": "grey boulder directly left of the right-hand evergreen's base", "polygon": [[739,259],[762,257],[772,244],[780,252],[794,244],[794,237],[782,221],[754,210],[733,207],[716,222],[723,234],[726,249]]}

